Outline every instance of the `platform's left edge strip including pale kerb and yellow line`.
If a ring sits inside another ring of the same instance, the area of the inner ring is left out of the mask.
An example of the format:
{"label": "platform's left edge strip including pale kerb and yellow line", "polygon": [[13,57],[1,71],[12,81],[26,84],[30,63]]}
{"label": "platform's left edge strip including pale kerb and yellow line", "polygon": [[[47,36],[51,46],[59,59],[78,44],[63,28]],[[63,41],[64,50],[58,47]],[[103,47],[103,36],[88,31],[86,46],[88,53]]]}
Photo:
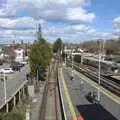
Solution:
{"label": "platform's left edge strip including pale kerb and yellow line", "polygon": [[84,118],[76,112],[76,108],[72,103],[65,79],[63,77],[62,68],[58,70],[58,86],[61,96],[64,120],[84,120]]}

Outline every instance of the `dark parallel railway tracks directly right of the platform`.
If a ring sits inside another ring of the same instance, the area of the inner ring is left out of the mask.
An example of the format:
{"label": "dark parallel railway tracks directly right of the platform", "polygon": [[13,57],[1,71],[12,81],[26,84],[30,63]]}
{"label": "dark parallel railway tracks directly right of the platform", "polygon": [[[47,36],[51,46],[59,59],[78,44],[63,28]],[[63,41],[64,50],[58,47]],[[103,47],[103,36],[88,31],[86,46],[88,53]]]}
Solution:
{"label": "dark parallel railway tracks directly right of the platform", "polygon": [[[71,63],[67,62],[69,66],[71,66]],[[77,70],[78,72],[84,74],[94,82],[98,83],[98,72],[95,70],[91,70],[88,67],[80,67],[78,64],[74,63],[73,65],[74,69]],[[110,92],[114,93],[118,97],[120,97],[120,81],[117,79],[114,79],[110,76],[104,76],[101,74],[101,86],[109,90]]]}

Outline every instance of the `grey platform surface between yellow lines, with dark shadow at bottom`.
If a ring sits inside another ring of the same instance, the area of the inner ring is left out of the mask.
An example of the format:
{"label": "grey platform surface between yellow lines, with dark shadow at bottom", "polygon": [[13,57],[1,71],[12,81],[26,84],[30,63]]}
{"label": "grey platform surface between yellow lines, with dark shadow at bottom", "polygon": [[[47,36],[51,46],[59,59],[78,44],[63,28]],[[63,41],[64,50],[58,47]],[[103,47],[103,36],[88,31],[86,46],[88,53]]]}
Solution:
{"label": "grey platform surface between yellow lines, with dark shadow at bottom", "polygon": [[101,92],[101,104],[92,104],[85,96],[90,91],[97,91],[96,88],[84,81],[84,78],[81,79],[80,74],[74,74],[74,80],[70,80],[70,68],[63,69],[63,76],[78,116],[82,115],[85,120],[120,120],[120,101]]}

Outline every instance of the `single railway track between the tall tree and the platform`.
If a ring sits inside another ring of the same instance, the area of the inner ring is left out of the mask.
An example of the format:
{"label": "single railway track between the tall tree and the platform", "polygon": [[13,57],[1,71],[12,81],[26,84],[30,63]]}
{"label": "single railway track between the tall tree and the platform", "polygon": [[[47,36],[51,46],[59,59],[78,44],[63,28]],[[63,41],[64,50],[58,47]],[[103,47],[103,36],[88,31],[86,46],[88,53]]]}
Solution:
{"label": "single railway track between the tall tree and the platform", "polygon": [[39,120],[58,120],[56,75],[57,61],[53,61],[43,93]]}

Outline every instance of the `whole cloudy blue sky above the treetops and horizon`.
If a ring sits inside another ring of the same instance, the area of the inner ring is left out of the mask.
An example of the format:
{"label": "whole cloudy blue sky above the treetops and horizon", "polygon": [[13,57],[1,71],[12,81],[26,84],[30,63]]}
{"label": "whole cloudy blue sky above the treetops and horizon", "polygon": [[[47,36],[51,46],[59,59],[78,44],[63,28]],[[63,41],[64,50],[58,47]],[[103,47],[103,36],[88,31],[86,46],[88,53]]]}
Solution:
{"label": "whole cloudy blue sky above the treetops and horizon", "polygon": [[120,0],[0,0],[0,44],[32,43],[38,24],[53,43],[116,39]]}

